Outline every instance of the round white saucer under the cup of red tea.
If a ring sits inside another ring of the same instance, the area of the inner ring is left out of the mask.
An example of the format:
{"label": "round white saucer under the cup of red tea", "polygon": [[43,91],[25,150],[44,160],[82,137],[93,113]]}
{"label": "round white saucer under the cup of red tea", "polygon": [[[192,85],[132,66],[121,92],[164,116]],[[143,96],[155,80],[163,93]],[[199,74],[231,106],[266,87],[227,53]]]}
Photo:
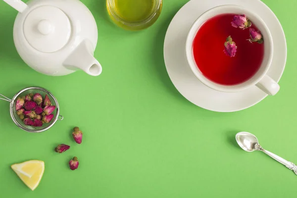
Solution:
{"label": "round white saucer under the cup of red tea", "polygon": [[192,73],[185,55],[186,39],[192,24],[208,9],[223,4],[250,8],[265,21],[271,30],[274,44],[274,56],[267,74],[279,82],[287,59],[286,38],[275,14],[260,0],[189,1],[177,12],[168,27],[164,42],[164,59],[172,83],[186,99],[208,110],[233,112],[253,106],[267,95],[255,86],[237,93],[212,90],[202,84]]}

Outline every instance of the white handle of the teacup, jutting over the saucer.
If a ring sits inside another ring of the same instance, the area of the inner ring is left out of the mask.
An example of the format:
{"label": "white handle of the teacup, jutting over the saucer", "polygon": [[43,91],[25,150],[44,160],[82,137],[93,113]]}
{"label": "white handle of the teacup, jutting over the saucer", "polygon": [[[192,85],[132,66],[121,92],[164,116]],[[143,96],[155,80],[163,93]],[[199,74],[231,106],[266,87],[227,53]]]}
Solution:
{"label": "white handle of the teacup, jutting over the saucer", "polygon": [[277,84],[268,75],[265,75],[256,86],[268,95],[274,96],[280,90],[279,84]]}

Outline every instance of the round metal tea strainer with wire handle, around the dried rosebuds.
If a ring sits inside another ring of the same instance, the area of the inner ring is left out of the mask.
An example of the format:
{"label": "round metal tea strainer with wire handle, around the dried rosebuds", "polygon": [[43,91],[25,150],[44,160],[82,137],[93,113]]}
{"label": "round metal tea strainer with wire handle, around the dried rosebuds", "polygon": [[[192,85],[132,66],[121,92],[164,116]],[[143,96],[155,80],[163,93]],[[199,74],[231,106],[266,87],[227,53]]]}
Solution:
{"label": "round metal tea strainer with wire handle, around the dried rosebuds", "polygon": [[[28,94],[37,94],[37,93],[40,94],[43,97],[43,99],[45,98],[46,95],[48,95],[48,97],[51,101],[51,105],[56,106],[55,110],[52,112],[54,117],[52,118],[52,120],[49,123],[44,123],[42,127],[27,126],[23,123],[23,121],[16,114],[15,102],[16,102],[17,98],[19,98],[19,97],[26,96]],[[58,101],[54,98],[54,96],[52,96],[52,94],[48,90],[46,90],[44,88],[41,88],[41,87],[25,88],[25,89],[19,91],[12,99],[9,99],[9,98],[3,96],[2,94],[0,94],[0,96],[3,97],[3,98],[0,97],[0,99],[10,102],[10,116],[11,116],[13,122],[19,128],[23,129],[24,131],[32,132],[32,133],[43,132],[43,131],[48,130],[50,127],[52,127],[57,120],[63,120],[63,116],[59,115]]]}

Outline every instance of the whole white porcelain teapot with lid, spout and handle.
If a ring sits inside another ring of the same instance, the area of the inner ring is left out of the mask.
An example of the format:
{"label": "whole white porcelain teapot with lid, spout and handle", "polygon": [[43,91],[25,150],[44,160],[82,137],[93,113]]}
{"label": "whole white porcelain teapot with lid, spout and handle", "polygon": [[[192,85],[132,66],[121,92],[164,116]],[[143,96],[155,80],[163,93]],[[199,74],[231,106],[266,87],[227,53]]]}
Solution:
{"label": "whole white porcelain teapot with lid, spout and handle", "polygon": [[102,72],[94,57],[98,41],[96,21],[79,0],[4,0],[19,11],[13,40],[21,58],[36,71],[62,76],[83,70]]}

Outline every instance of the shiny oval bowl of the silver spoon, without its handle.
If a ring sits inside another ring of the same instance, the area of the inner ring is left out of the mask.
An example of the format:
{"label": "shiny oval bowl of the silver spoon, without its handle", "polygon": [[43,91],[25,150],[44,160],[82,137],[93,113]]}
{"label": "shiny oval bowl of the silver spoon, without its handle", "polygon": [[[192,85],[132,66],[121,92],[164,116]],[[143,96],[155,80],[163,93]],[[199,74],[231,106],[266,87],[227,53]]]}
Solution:
{"label": "shiny oval bowl of the silver spoon, without its handle", "polygon": [[247,152],[252,152],[255,150],[255,145],[259,144],[258,139],[247,132],[240,132],[236,134],[236,142],[237,144]]}

